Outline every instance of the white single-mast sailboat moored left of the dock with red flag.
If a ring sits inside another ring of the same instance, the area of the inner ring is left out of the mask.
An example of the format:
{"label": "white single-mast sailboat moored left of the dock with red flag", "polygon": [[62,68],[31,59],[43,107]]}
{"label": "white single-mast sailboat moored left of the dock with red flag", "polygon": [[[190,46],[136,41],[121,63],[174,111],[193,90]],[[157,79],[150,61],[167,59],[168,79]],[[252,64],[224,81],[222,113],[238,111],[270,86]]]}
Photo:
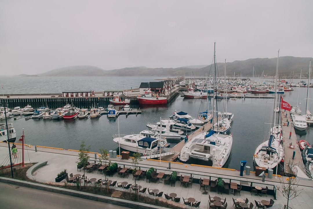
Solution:
{"label": "white single-mast sailboat moored left of the dock with red flag", "polygon": [[[278,60],[279,60],[279,50],[276,65],[276,82],[275,82],[275,94],[274,94],[274,105],[276,107],[276,96],[277,96],[277,75],[278,75]],[[284,147],[281,144],[282,135],[277,130],[279,125],[276,125],[276,114],[273,112],[272,124],[274,125],[269,132],[269,139],[259,144],[254,152],[254,161],[259,167],[264,167],[265,169],[273,169],[277,167],[284,156]],[[276,129],[277,128],[277,129]]]}

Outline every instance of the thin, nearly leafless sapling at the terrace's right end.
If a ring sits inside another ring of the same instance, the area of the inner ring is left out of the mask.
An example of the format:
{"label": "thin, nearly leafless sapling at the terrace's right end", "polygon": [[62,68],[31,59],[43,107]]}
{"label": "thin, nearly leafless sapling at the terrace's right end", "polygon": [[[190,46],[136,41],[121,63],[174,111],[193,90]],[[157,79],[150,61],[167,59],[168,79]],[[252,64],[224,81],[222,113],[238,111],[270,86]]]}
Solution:
{"label": "thin, nearly leafless sapling at the terrace's right end", "polygon": [[[287,169],[289,169],[290,174],[294,171],[294,159],[287,163]],[[285,182],[286,181],[286,182]],[[289,208],[289,201],[296,198],[301,194],[302,189],[298,189],[299,180],[294,176],[287,177],[285,180],[280,179],[280,186],[277,187],[278,191],[287,199],[287,209]]]}

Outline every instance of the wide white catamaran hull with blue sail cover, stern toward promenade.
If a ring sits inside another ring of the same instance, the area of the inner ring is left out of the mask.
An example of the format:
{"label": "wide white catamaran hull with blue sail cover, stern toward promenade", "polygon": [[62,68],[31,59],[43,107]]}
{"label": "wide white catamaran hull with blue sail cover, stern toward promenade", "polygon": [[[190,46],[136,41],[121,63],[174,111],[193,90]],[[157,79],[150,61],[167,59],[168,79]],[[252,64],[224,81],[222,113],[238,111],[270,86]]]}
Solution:
{"label": "wide white catamaran hull with blue sail cover, stern toward promenade", "polygon": [[203,132],[191,138],[181,150],[180,161],[190,158],[212,161],[213,167],[223,167],[232,149],[232,135]]}

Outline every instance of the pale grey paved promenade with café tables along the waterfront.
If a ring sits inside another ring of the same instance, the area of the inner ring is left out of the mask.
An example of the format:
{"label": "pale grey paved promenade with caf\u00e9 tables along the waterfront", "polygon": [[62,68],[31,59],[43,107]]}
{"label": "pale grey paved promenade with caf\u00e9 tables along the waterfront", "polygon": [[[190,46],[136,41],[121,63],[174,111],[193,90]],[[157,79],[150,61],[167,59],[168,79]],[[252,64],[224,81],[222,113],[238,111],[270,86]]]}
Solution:
{"label": "pale grey paved promenade with caf\u00e9 tables along the waterfront", "polygon": [[[7,144],[0,143],[0,160],[4,159],[8,156],[8,148],[6,147]],[[21,150],[19,150],[20,152]],[[38,161],[48,161],[48,164],[37,171],[34,172],[34,177],[37,181],[40,182],[47,182],[51,181],[54,182],[54,178],[56,177],[57,173],[59,173],[63,169],[67,169],[69,173],[73,174],[83,174],[83,170],[78,172],[76,168],[76,161],[77,161],[77,152],[75,151],[69,151],[69,150],[58,150],[58,149],[49,149],[49,148],[38,148],[38,152],[34,151],[34,147],[28,148],[28,151],[25,150],[25,161],[31,162],[38,162]],[[28,159],[29,155],[29,159]],[[90,154],[90,157],[95,157],[94,154]],[[90,162],[92,162],[94,159],[90,159]],[[119,166],[123,167],[132,167],[131,166],[131,159],[129,160],[122,160],[119,158],[112,158],[112,162],[117,162]],[[269,185],[276,185],[279,186],[279,179],[266,179],[265,182],[261,181],[260,177],[254,176],[252,173],[251,175],[244,175],[243,177],[239,176],[239,172],[236,170],[226,170],[226,169],[215,169],[215,168],[207,168],[207,167],[201,167],[201,166],[192,166],[192,165],[186,165],[184,164],[171,164],[171,170],[166,169],[168,167],[168,162],[161,162],[155,161],[155,160],[143,160],[140,164],[142,170],[146,170],[146,168],[154,167],[157,169],[157,172],[165,172],[166,174],[171,174],[173,170],[176,170],[179,172],[178,175],[190,175],[192,174],[195,178],[204,177],[204,175],[212,176],[212,179],[214,180],[214,176],[216,177],[222,177],[225,179],[233,179],[232,182],[240,183],[240,181],[249,181],[254,182],[253,185],[260,185],[264,187],[264,184]],[[103,174],[98,174],[97,172],[94,173],[86,173],[87,177],[90,178],[96,178],[96,179],[104,179]],[[132,175],[130,175],[128,178],[118,178],[117,173],[113,177],[109,177],[110,180],[117,180],[117,182],[127,181],[129,184],[134,183],[134,180],[132,180]],[[281,178],[284,179],[284,178]],[[200,208],[208,208],[208,195],[211,197],[213,196],[219,196],[221,198],[226,198],[226,201],[228,203],[228,208],[231,208],[233,205],[232,198],[248,198],[249,202],[252,201],[254,204],[254,200],[260,201],[260,200],[269,200],[270,198],[274,199],[272,195],[266,196],[254,196],[250,194],[250,192],[242,191],[241,196],[239,196],[238,193],[234,196],[233,194],[217,194],[216,192],[211,192],[209,190],[208,194],[203,194],[203,189],[200,190],[199,184],[193,184],[192,188],[188,187],[185,188],[183,186],[180,186],[180,182],[176,181],[175,187],[170,185],[165,185],[163,183],[146,183],[146,180],[138,180],[137,181],[139,185],[142,187],[148,187],[149,189],[159,189],[160,191],[163,191],[165,194],[169,193],[176,193],[177,197],[181,197],[181,203],[183,203],[182,198],[189,198],[193,197],[197,201],[201,201]],[[294,200],[290,201],[290,207],[292,208],[313,208],[313,182],[309,180],[300,180],[299,185],[301,189],[301,195],[295,198]],[[269,186],[270,187],[270,186]],[[164,197],[164,195],[163,195]],[[282,206],[286,203],[285,198],[281,195],[279,191],[277,191],[274,206]],[[255,205],[255,204],[254,204]]]}

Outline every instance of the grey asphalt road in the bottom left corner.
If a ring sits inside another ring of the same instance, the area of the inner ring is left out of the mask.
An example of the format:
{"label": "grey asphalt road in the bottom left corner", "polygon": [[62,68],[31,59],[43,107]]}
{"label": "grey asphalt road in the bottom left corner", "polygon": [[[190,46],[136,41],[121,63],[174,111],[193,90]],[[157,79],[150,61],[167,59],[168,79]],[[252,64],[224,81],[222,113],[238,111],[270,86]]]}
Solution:
{"label": "grey asphalt road in the bottom left corner", "polygon": [[79,197],[60,195],[53,192],[19,187],[0,183],[0,208],[1,209],[126,209],[127,207],[115,206],[103,202],[86,200]]}

